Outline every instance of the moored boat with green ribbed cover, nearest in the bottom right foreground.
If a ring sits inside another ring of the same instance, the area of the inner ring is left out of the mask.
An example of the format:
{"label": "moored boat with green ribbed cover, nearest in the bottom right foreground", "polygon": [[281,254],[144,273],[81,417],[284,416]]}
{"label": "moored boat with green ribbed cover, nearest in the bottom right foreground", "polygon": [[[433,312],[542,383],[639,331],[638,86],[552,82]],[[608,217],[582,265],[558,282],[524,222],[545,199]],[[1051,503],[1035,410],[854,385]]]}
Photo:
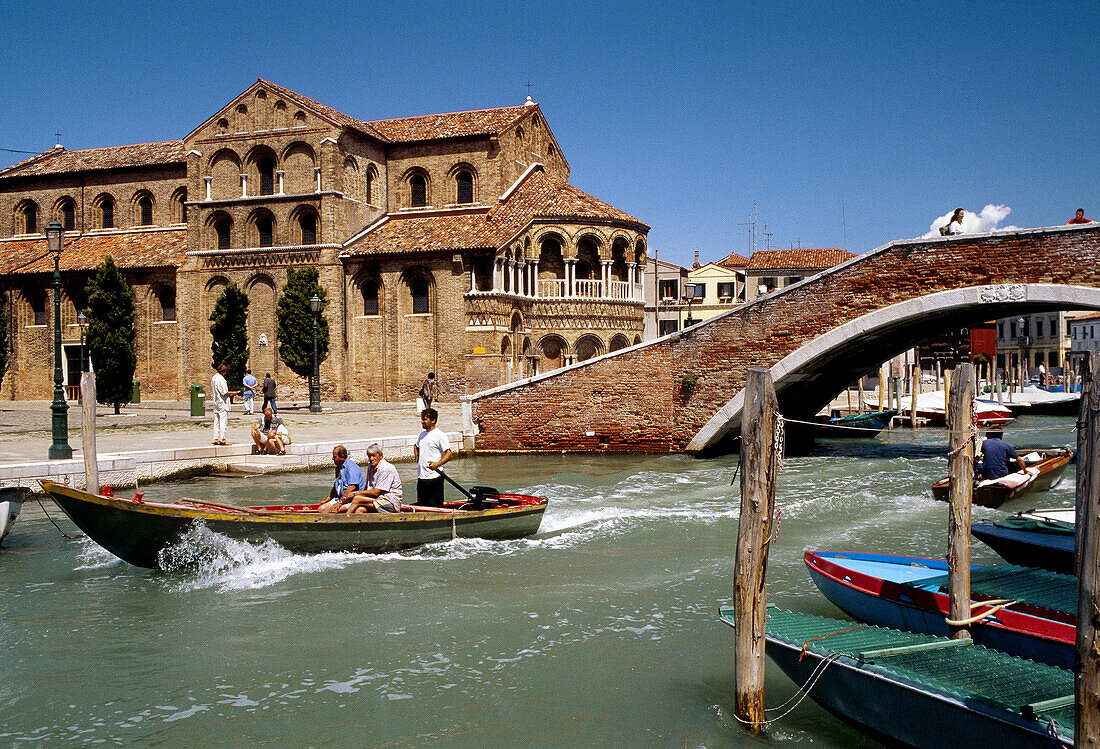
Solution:
{"label": "moored boat with green ribbed cover, nearest in the bottom right foreground", "polygon": [[[733,609],[719,616],[733,624]],[[1074,673],[948,640],[769,608],[767,652],[818,705],[887,745],[1074,746]]]}

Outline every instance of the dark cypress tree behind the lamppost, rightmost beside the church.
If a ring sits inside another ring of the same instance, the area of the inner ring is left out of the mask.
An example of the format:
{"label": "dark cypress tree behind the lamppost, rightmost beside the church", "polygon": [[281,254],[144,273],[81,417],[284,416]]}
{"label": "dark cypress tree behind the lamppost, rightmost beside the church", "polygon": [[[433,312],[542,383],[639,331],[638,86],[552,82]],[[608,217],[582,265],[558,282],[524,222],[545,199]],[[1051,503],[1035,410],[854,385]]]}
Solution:
{"label": "dark cypress tree behind the lamppost, rightmost beside the church", "polygon": [[309,299],[315,294],[321,298],[321,316],[317,326],[317,363],[329,355],[329,323],[324,319],[328,300],[318,284],[316,265],[301,271],[286,269],[286,286],[278,298],[278,355],[298,376],[312,379],[314,374],[314,312]]}

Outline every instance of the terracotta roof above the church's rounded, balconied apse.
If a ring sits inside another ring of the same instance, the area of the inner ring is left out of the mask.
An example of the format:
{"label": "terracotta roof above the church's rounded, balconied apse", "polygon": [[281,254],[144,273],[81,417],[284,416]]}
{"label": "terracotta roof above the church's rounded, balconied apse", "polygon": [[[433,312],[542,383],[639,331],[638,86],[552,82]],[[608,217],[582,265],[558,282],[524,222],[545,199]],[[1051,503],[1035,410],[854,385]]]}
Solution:
{"label": "terracotta roof above the church's rounded, balconied apse", "polygon": [[541,169],[529,174],[508,198],[491,208],[465,211],[397,212],[352,242],[346,254],[496,250],[534,220],[613,222],[649,227]]}

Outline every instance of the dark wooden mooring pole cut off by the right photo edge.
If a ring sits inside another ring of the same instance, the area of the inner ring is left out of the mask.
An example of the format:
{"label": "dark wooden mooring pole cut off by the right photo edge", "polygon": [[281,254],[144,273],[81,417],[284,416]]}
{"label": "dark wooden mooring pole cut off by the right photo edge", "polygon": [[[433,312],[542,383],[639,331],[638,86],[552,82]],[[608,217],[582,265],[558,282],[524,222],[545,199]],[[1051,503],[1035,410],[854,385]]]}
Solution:
{"label": "dark wooden mooring pole cut off by the right photo edge", "polygon": [[1100,352],[1081,373],[1077,420],[1076,746],[1100,747]]}

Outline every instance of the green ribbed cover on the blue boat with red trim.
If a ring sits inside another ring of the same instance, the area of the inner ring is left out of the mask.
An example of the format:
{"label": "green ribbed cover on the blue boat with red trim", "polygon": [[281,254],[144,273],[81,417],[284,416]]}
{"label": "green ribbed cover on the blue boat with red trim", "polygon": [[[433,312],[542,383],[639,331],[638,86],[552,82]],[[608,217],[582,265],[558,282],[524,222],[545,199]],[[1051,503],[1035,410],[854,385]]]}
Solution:
{"label": "green ribbed cover on the blue boat with red trim", "polygon": [[[919,583],[924,590],[948,588],[948,575],[927,577]],[[1077,577],[1058,572],[1016,564],[990,564],[971,568],[970,597],[1011,598],[1077,616]]]}

